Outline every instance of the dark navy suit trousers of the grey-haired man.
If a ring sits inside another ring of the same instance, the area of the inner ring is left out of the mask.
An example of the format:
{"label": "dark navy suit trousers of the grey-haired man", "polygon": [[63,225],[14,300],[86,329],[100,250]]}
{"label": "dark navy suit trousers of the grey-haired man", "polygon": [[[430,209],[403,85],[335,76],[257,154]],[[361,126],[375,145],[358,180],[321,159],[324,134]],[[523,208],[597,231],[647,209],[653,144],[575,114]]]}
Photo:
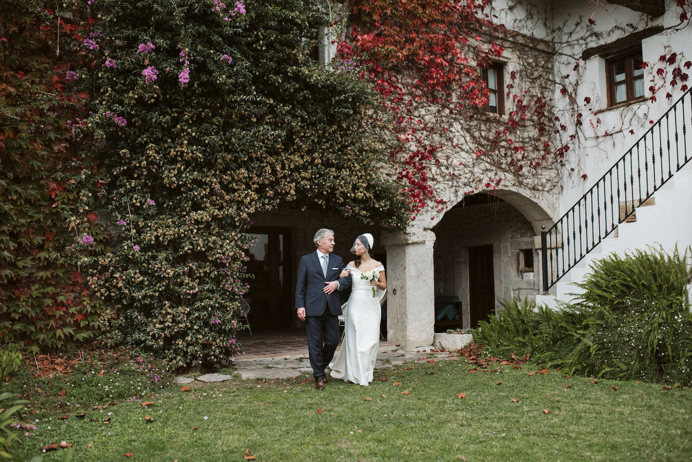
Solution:
{"label": "dark navy suit trousers of the grey-haired man", "polygon": [[339,344],[339,318],[325,308],[320,316],[306,316],[307,346],[314,377],[326,377],[325,367]]}

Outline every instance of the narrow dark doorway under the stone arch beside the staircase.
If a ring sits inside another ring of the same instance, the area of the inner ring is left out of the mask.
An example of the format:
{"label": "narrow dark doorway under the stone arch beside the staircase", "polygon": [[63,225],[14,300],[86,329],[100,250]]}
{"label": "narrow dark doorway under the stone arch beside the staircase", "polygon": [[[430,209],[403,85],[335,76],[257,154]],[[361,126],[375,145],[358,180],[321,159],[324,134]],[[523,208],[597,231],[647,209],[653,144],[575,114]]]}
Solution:
{"label": "narrow dark doorway under the stone arch beside the staircase", "polygon": [[468,247],[468,299],[472,328],[495,313],[492,245]]}

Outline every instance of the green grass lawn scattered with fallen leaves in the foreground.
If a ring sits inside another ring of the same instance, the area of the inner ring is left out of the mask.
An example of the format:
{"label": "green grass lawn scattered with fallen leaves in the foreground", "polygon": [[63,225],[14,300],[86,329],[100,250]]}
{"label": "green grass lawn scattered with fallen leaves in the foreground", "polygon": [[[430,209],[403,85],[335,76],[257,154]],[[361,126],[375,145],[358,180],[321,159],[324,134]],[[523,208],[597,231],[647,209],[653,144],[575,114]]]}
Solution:
{"label": "green grass lawn scattered with fallen leaves in the foreground", "polygon": [[[470,369],[463,357],[405,364],[375,371],[370,387],[331,380],[324,391],[312,387],[311,377],[180,391],[174,384],[147,387],[127,368],[100,377],[98,368],[62,379],[27,375],[12,380],[10,391],[21,389],[33,400],[37,411],[21,417],[37,427],[29,432],[35,436],[17,430],[12,452],[28,460],[41,454],[42,446],[66,441],[75,461],[243,461],[248,449],[258,461],[692,457],[688,389],[592,383],[592,378],[565,378],[554,370],[529,375],[539,369],[531,364],[521,370],[498,366],[497,372]],[[111,387],[104,391],[104,384]],[[140,396],[92,409],[114,402],[118,393]],[[143,407],[140,399],[154,404]],[[86,416],[78,418],[83,411]],[[60,461],[66,451],[46,452],[46,461]]]}

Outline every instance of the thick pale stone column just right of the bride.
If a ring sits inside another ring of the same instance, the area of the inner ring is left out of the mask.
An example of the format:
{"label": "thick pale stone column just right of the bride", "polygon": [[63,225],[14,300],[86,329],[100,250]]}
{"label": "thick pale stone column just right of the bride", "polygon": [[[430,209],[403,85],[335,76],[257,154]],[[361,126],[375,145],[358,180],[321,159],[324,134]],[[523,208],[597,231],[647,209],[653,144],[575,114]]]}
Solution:
{"label": "thick pale stone column just right of the bride", "polygon": [[403,350],[432,345],[435,328],[435,233],[383,231],[387,251],[387,339]]}

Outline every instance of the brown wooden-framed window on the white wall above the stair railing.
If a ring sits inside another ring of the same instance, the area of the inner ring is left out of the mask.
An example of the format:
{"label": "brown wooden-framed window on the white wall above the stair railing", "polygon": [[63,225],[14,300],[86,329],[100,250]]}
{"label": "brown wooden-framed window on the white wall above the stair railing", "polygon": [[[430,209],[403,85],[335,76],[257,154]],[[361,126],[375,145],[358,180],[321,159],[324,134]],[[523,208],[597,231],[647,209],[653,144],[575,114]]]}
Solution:
{"label": "brown wooden-framed window on the white wall above the stair railing", "polygon": [[644,98],[644,69],[641,46],[605,61],[608,80],[608,106]]}

